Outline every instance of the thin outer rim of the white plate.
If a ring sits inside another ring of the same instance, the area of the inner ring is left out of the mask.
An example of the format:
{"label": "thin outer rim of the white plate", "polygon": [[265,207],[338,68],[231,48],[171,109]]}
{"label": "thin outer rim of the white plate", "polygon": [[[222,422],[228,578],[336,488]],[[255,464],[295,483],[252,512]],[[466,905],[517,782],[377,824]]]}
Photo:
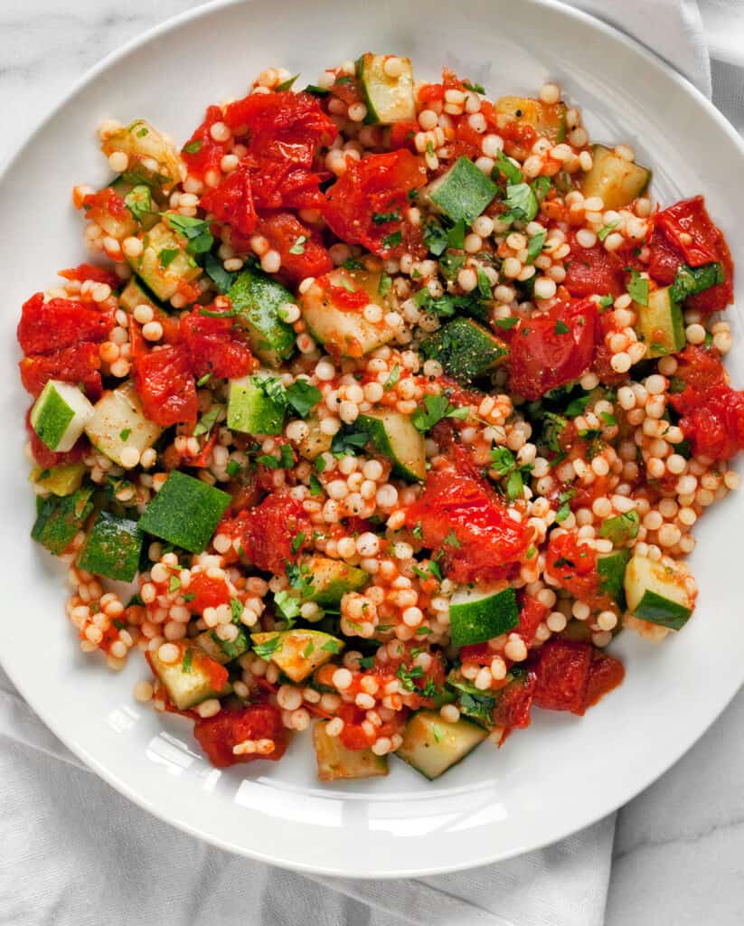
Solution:
{"label": "thin outer rim of the white plate", "polygon": [[[34,125],[32,125],[31,130],[27,131],[25,135],[22,136],[19,143],[15,146],[15,149],[11,151],[10,156],[6,160],[6,163],[2,169],[0,169],[0,194],[2,193],[6,184],[11,181],[13,172],[19,164],[19,161],[24,156],[31,144],[33,144],[37,137],[43,132],[43,129],[47,123],[54,119],[58,112],[67,106],[77,94],[81,93],[82,90],[96,81],[99,76],[105,73],[107,69],[116,64],[121,58],[128,56],[130,52],[137,50],[143,45],[151,43],[156,38],[167,34],[170,31],[180,29],[180,27],[185,23],[196,19],[208,18],[220,9],[225,9],[230,6],[248,5],[251,2],[252,0],[208,0],[208,2],[204,4],[195,6],[192,9],[184,10],[183,12],[165,19],[163,22],[160,22],[147,30],[140,32],[139,34],[133,36],[126,43],[119,45],[112,52],[94,64],[91,68],[87,69],[80,78],[71,83],[71,85],[68,87],[68,90],[61,94],[61,96],[59,96],[48,109],[43,110],[43,116],[38,119]],[[655,69],[659,74],[663,75],[665,79],[673,81],[673,83],[676,84],[681,92],[691,96],[697,105],[702,106],[702,108],[707,112],[708,116],[717,123],[718,127],[734,144],[734,147],[738,149],[738,154],[741,156],[742,164],[744,165],[744,138],[742,138],[742,136],[738,133],[738,131],[736,131],[728,119],[725,118],[724,114],[713,105],[713,102],[708,99],[708,97],[703,94],[701,90],[698,89],[698,87],[696,87],[691,81],[688,80],[687,77],[676,70],[666,60],[653,53],[647,45],[640,43],[639,40],[635,37],[626,34],[626,32],[621,31],[614,25],[605,22],[603,19],[599,19],[598,17],[592,15],[589,12],[586,12],[583,9],[578,9],[574,6],[567,6],[566,4],[562,3],[561,0],[522,0],[522,3],[527,6],[552,9],[553,11],[560,13],[565,19],[569,21],[577,20],[579,22],[583,22],[586,26],[589,26],[589,28],[603,33],[606,37],[610,38],[615,43],[625,45],[626,48],[632,51],[635,55],[641,56],[651,67],[651,69]],[[484,857],[479,858],[477,861],[467,861],[459,864],[455,862],[449,864],[440,864],[436,866],[428,866],[424,868],[403,868],[401,870],[392,872],[384,870],[369,870],[368,868],[364,869],[359,867],[353,869],[341,869],[338,867],[317,866],[312,862],[286,861],[283,859],[278,859],[275,856],[262,852],[258,848],[248,848],[245,845],[238,845],[231,841],[229,838],[223,839],[217,834],[205,832],[204,830],[200,829],[198,825],[192,824],[188,820],[184,820],[181,817],[171,816],[167,813],[167,811],[161,811],[159,807],[150,802],[146,796],[140,794],[128,782],[119,778],[114,770],[110,770],[101,760],[96,758],[73,737],[68,737],[64,733],[60,732],[57,729],[56,720],[52,718],[51,712],[48,711],[45,706],[46,702],[44,701],[43,697],[36,698],[33,694],[29,693],[23,679],[21,679],[14,672],[10,661],[6,660],[5,655],[2,652],[0,652],[0,666],[5,669],[10,681],[15,685],[21,697],[28,703],[34,713],[39,717],[40,720],[42,720],[44,726],[53,732],[56,738],[66,748],[68,748],[69,751],[73,753],[73,755],[79,758],[87,769],[92,770],[94,774],[96,774],[108,785],[113,787],[120,795],[123,795],[132,801],[132,803],[134,803],[136,806],[141,807],[146,812],[153,814],[156,819],[175,827],[176,829],[180,830],[180,832],[185,832],[190,836],[200,839],[208,845],[214,845],[217,848],[230,852],[234,855],[252,858],[265,864],[275,865],[279,868],[297,871],[302,874],[316,874],[334,878],[351,877],[360,880],[393,880],[409,877],[426,877],[430,875],[469,870],[482,865],[489,865],[499,861],[506,861],[507,859],[524,855],[527,852],[539,851],[548,845],[558,843],[571,836],[572,834],[592,826],[600,820],[605,819],[605,817],[609,816],[611,813],[616,812],[619,807],[623,807],[626,803],[639,795],[641,791],[650,787],[651,784],[658,781],[668,770],[670,770],[672,766],[674,766],[676,762],[678,762],[679,759],[683,757],[688,752],[688,750],[701,739],[704,733],[711,728],[713,723],[718,720],[721,714],[725,711],[726,707],[729,706],[735,695],[738,693],[742,683],[744,683],[744,678],[738,680],[738,682],[733,683],[728,693],[725,694],[725,700],[722,702],[721,706],[716,710],[711,719],[703,727],[701,727],[701,729],[696,730],[691,737],[681,738],[681,745],[679,745],[676,749],[670,750],[669,754],[665,756],[663,761],[660,763],[660,768],[654,771],[654,774],[648,781],[640,784],[638,784],[638,782],[633,782],[628,787],[626,792],[622,793],[618,798],[614,798],[612,801],[610,801],[607,809],[599,816],[595,815],[594,810],[591,810],[589,811],[588,818],[581,818],[578,825],[575,825],[573,822],[566,822],[564,826],[556,826],[549,835],[546,835],[534,843],[530,842],[529,846],[515,845],[510,849],[491,853],[490,855],[487,854]],[[744,675],[744,669],[742,670],[742,675]]]}

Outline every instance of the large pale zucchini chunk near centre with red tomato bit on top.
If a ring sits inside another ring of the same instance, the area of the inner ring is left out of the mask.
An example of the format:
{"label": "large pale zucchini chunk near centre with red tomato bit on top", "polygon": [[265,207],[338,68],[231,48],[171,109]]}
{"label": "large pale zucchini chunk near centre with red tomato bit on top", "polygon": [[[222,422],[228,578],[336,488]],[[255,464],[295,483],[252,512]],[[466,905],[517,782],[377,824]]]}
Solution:
{"label": "large pale zucchini chunk near centre with red tomato bit on top", "polygon": [[[332,286],[355,292],[363,289],[369,301],[382,305],[381,297],[370,293],[369,274],[363,271],[352,273],[338,268],[329,274]],[[379,278],[379,275],[376,275]],[[384,321],[371,322],[364,317],[364,307],[349,308],[337,306],[331,294],[315,282],[302,295],[300,307],[310,332],[321,344],[335,349],[345,357],[362,357],[370,351],[387,344],[393,337],[391,328]]]}

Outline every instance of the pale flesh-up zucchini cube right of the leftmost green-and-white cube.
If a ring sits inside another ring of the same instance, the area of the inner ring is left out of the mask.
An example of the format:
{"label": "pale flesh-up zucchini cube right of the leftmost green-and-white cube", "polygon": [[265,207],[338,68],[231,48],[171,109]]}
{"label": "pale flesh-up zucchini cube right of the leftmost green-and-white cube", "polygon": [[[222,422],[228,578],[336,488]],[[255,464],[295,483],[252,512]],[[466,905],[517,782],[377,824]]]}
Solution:
{"label": "pale flesh-up zucchini cube right of the leftmost green-and-white cube", "polygon": [[93,417],[85,426],[91,444],[118,466],[125,447],[134,447],[142,454],[162,432],[160,425],[145,416],[140,397],[130,382],[105,392],[95,403]]}

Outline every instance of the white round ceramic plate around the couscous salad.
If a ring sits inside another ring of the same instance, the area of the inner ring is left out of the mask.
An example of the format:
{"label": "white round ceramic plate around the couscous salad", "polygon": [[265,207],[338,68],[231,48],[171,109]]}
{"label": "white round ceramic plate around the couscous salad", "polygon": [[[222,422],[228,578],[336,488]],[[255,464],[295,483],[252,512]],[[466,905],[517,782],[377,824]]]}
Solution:
{"label": "white round ceramic plate around the couscous salad", "polygon": [[[362,37],[362,38],[360,38]],[[545,845],[600,819],[688,749],[744,680],[741,552],[744,496],[702,520],[693,568],[700,605],[659,647],[623,634],[622,687],[579,720],[536,710],[499,752],[484,745],[440,782],[402,762],[371,782],[321,787],[310,737],[277,764],[212,769],[190,724],[137,705],[146,677],[136,654],[121,675],[83,657],[64,615],[61,570],[35,544],[26,478],[15,328],[22,301],[85,257],[74,183],[103,182],[95,127],[146,117],[182,140],[208,103],[246,92],[258,70],[281,65],[316,81],[326,65],[367,49],[410,55],[419,76],[443,64],[491,94],[534,94],[560,83],[592,137],[629,142],[654,169],[664,203],[703,192],[737,248],[744,215],[742,145],[687,82],[619,33],[564,6],[514,0],[273,0],[200,7],[148,33],[94,69],[45,120],[0,185],[4,269],[0,395],[3,508],[0,618],[3,664],[56,734],[122,794],[223,848],[298,870],[395,877],[469,868]],[[744,301],[744,286],[738,286]],[[729,366],[744,365],[741,317]],[[744,384],[735,376],[735,383]],[[29,634],[40,624],[43,632]]]}

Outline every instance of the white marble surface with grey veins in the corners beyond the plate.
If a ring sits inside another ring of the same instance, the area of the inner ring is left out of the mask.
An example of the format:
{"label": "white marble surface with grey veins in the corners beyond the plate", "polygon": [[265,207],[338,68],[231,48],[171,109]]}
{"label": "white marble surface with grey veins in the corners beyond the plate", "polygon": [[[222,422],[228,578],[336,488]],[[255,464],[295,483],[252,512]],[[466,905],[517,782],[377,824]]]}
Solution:
{"label": "white marble surface with grey veins in the corners beyond the plate", "polygon": [[[0,167],[86,69],[155,23],[198,5],[0,0]],[[743,122],[740,116],[738,125]],[[744,923],[742,729],[744,692],[673,770],[621,810],[607,926]]]}

